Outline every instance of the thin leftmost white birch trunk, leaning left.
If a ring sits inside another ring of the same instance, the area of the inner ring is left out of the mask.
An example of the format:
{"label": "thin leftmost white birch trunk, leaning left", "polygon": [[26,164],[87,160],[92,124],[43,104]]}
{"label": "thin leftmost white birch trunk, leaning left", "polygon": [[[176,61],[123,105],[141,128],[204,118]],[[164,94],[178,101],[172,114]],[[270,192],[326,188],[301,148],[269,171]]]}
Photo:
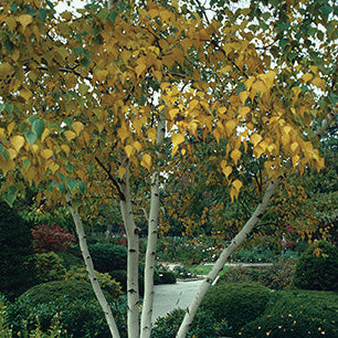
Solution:
{"label": "thin leftmost white birch trunk, leaning left", "polygon": [[87,272],[88,272],[88,275],[89,275],[89,281],[91,281],[93,291],[94,291],[95,296],[96,296],[96,298],[97,298],[97,300],[98,300],[98,303],[99,303],[99,305],[101,305],[101,307],[102,307],[102,309],[105,314],[105,318],[106,318],[106,321],[108,324],[112,336],[114,338],[119,338],[120,336],[119,336],[116,323],[114,320],[110,306],[109,306],[104,293],[102,292],[102,288],[98,284],[98,281],[97,281],[97,277],[96,277],[96,274],[95,274],[95,271],[94,271],[93,261],[92,261],[92,257],[91,257],[91,254],[89,254],[89,251],[88,251],[88,246],[87,246],[86,234],[84,232],[82,220],[81,220],[80,214],[78,214],[78,208],[75,208],[75,207],[72,205],[72,200],[71,200],[70,194],[66,196],[66,200],[67,200],[67,204],[68,204],[68,208],[71,210],[71,213],[72,213],[72,216],[73,216],[73,220],[74,220],[81,253],[82,253],[83,260],[85,262],[85,265],[86,265],[86,268],[87,268]]}

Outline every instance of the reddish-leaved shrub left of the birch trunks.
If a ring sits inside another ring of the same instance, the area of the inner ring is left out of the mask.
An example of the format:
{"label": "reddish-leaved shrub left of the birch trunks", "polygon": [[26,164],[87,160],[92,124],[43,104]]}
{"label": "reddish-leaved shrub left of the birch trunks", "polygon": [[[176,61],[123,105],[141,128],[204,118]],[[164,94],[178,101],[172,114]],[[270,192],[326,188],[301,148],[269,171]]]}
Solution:
{"label": "reddish-leaved shrub left of the birch trunks", "polygon": [[65,250],[74,242],[74,235],[59,224],[36,225],[32,229],[33,247],[38,253],[59,252]]}

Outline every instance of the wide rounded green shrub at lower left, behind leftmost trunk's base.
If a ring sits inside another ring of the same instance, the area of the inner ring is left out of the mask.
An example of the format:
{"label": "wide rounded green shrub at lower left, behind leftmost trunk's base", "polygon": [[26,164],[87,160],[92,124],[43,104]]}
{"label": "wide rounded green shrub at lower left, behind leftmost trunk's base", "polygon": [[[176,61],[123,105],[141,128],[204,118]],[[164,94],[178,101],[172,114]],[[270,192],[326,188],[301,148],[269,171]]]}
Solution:
{"label": "wide rounded green shrub at lower left, behind leftmost trunk's base", "polygon": [[[126,305],[124,303],[109,304],[118,327],[125,335]],[[51,282],[38,285],[21,295],[8,308],[9,321],[13,325],[14,332],[22,330],[24,321],[28,329],[40,323],[41,329],[46,331],[57,317],[60,324],[67,330],[68,337],[108,337],[104,313],[95,299],[92,286],[80,281]]]}

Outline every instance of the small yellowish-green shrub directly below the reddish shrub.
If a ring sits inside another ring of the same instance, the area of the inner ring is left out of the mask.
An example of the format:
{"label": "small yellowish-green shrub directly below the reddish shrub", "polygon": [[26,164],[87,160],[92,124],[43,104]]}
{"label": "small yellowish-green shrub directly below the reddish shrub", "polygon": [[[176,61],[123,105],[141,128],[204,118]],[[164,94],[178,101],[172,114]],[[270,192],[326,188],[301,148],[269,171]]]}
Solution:
{"label": "small yellowish-green shrub directly below the reddish shrub", "polygon": [[54,252],[34,254],[31,262],[35,265],[35,284],[63,279],[66,270]]}

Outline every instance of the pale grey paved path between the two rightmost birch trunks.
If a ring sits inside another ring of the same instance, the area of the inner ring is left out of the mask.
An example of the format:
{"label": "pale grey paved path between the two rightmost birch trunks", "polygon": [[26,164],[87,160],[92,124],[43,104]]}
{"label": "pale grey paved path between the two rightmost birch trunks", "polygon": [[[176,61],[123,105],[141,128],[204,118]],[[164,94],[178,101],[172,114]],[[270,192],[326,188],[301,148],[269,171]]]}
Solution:
{"label": "pale grey paved path between the two rightmost birch trunks", "polygon": [[187,308],[197,294],[202,281],[177,282],[155,285],[152,323],[175,308]]}

